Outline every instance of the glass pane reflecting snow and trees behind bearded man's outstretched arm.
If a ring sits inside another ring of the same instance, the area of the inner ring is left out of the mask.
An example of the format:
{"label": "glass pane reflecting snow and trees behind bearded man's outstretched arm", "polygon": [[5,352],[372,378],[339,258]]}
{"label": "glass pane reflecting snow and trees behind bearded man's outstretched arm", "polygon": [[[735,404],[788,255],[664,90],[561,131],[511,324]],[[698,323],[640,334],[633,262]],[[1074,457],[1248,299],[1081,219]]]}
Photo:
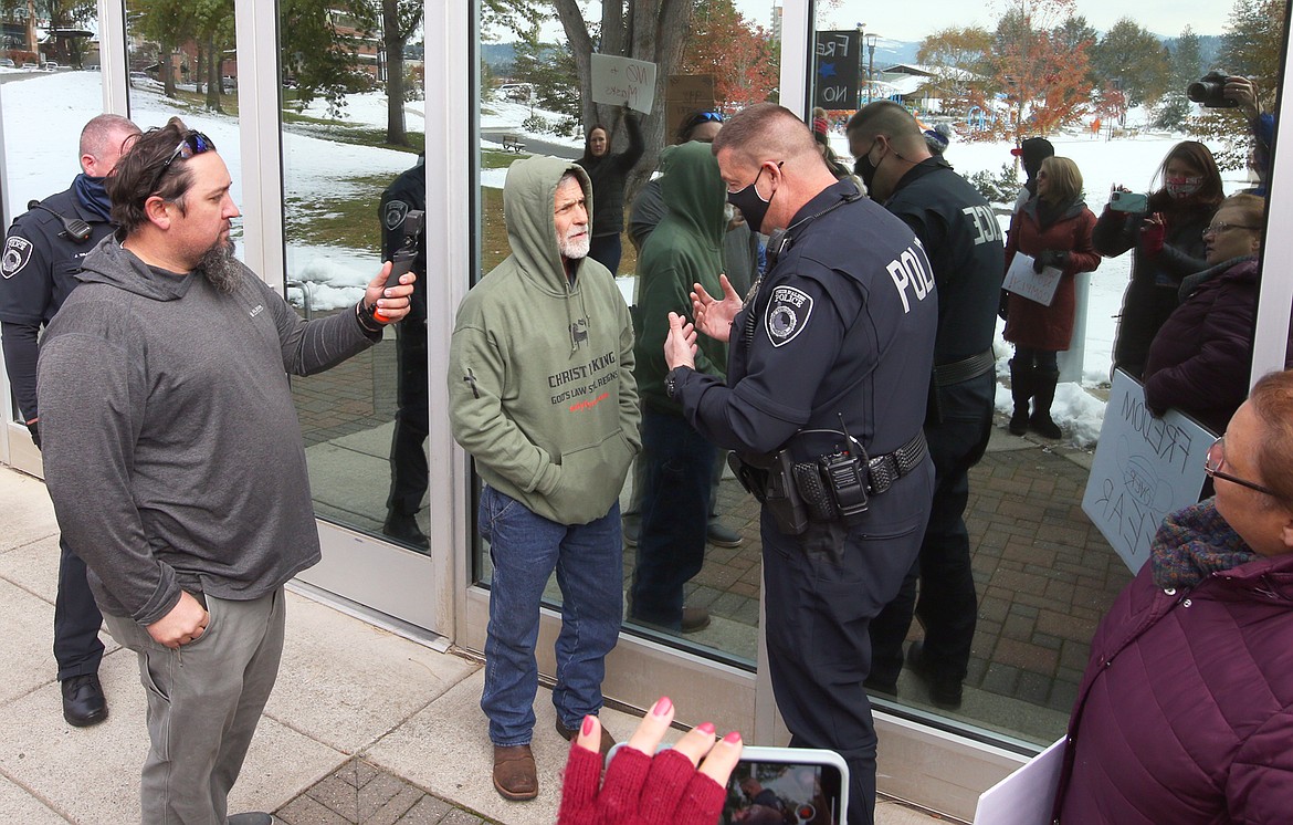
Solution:
{"label": "glass pane reflecting snow and trees behind bearded man's outstretched arm", "polygon": [[[424,122],[411,100],[423,88],[420,13],[402,21],[396,61],[383,50],[380,6],[278,8],[287,299],[306,318],[350,312],[403,244],[409,213],[425,209]],[[419,279],[424,261],[412,266]],[[424,287],[376,347],[294,379],[321,517],[427,552],[425,388]]]}

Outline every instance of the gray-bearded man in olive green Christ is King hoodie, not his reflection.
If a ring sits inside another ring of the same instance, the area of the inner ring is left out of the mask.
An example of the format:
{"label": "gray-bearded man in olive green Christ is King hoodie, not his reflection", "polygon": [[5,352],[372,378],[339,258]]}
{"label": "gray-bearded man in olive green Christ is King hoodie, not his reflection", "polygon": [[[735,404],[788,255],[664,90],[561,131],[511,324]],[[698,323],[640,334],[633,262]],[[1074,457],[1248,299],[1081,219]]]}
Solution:
{"label": "gray-bearded man in olive green Christ is King hoodie, not his reflection", "polygon": [[[467,295],[449,354],[454,440],[485,482],[478,529],[494,577],[485,691],[494,788],[539,793],[530,751],[539,603],[561,588],[552,703],[570,738],[601,710],[619,639],[619,489],[637,453],[634,332],[615,282],[587,257],[592,184],[556,158],[517,160],[503,212],[512,253]],[[603,729],[603,751],[614,741]]]}

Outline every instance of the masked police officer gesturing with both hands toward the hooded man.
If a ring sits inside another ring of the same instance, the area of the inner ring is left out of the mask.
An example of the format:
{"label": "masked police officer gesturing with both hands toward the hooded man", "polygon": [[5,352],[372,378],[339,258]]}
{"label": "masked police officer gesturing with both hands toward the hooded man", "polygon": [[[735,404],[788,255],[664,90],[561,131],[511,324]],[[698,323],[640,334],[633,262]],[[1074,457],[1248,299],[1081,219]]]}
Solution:
{"label": "masked police officer gesturing with both hands toward the hooded man", "polygon": [[[776,256],[742,308],[697,287],[670,318],[666,379],[688,420],[736,451],[763,502],[767,643],[791,745],[850,767],[851,825],[873,821],[868,623],[917,557],[934,490],[926,383],[937,303],[919,241],[837,182],[789,110],[751,106],[714,142],[728,199]],[[697,330],[728,340],[728,378],[696,372]]]}

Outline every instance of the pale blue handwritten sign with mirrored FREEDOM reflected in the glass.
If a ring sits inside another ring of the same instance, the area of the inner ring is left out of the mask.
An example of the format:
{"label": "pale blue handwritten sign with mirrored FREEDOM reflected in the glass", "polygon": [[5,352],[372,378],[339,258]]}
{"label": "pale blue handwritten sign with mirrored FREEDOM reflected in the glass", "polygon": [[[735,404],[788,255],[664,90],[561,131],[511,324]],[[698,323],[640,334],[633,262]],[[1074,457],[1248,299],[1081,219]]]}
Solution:
{"label": "pale blue handwritten sign with mirrored FREEDOM reflected in the glass", "polygon": [[1144,388],[1122,370],[1113,374],[1082,511],[1133,573],[1149,557],[1162,517],[1199,500],[1213,438],[1175,410],[1155,418]]}

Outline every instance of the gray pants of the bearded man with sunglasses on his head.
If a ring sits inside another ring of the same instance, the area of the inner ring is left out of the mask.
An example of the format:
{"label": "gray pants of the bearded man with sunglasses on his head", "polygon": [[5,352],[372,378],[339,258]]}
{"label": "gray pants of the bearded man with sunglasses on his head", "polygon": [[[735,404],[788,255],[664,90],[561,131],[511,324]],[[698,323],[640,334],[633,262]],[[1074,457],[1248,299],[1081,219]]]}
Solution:
{"label": "gray pants of the bearded man with sunglasses on his head", "polygon": [[229,790],[278,676],[283,588],[252,601],[206,601],[207,631],[178,650],[129,618],[103,617],[138,654],[149,700],[144,825],[225,825]]}

